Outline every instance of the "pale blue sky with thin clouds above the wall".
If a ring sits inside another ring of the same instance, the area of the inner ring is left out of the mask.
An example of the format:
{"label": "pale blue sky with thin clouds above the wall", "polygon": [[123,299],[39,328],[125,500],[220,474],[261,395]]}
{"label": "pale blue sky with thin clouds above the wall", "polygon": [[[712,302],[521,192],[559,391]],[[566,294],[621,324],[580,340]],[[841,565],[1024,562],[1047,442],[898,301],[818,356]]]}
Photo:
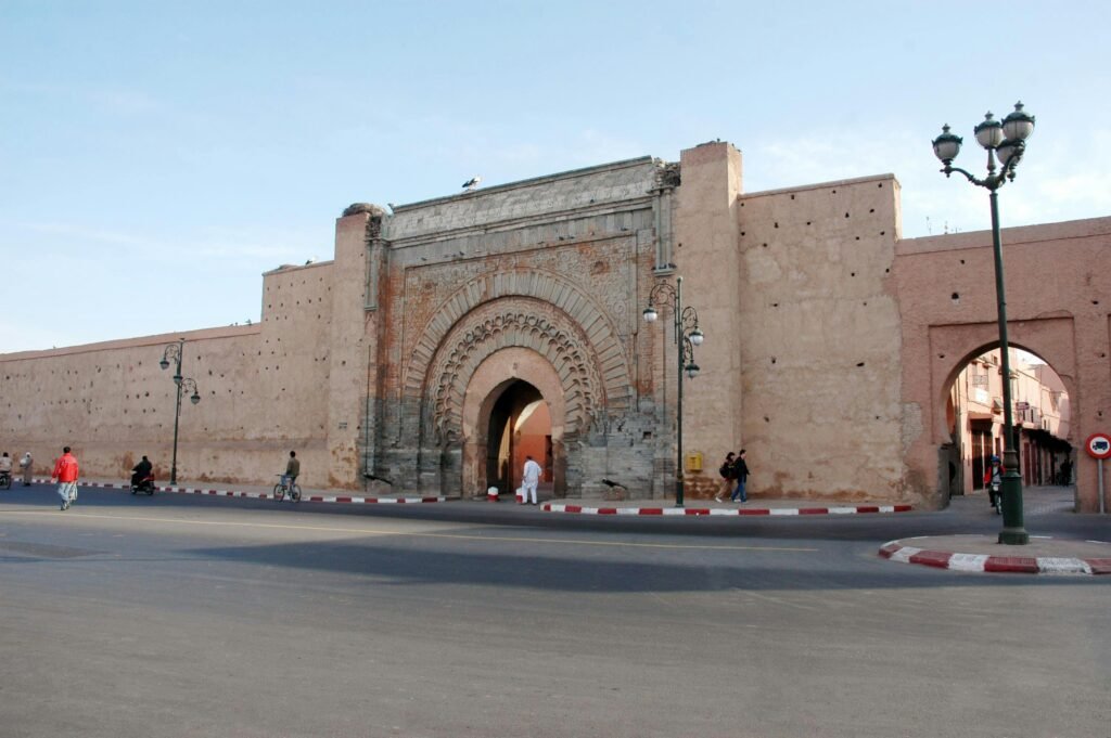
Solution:
{"label": "pale blue sky with thin clouds above the wall", "polygon": [[[1111,3],[0,0],[0,354],[257,322],[261,274],[409,203],[705,141],[747,192],[894,173],[990,228],[972,128],[1037,130],[1003,226],[1111,215]],[[990,276],[988,277],[990,279]]]}

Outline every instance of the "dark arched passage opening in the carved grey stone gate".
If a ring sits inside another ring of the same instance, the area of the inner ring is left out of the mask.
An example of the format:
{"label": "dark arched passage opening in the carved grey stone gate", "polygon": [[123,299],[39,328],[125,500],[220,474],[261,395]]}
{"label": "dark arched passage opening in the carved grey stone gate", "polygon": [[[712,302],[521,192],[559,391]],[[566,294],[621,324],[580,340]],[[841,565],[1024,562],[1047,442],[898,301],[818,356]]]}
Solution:
{"label": "dark arched passage opening in the carved grey stone gate", "polygon": [[502,493],[521,485],[524,459],[532,456],[543,469],[541,491],[554,478],[552,422],[540,391],[522,380],[509,383],[494,401],[487,432],[487,484]]}

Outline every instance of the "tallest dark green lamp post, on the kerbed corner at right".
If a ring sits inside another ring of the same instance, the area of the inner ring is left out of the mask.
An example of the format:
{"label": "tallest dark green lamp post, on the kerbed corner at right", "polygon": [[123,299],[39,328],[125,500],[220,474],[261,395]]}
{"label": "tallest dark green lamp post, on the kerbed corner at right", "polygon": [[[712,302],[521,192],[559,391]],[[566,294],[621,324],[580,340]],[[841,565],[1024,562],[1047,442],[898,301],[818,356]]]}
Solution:
{"label": "tallest dark green lamp post, on the kerbed corner at right", "polygon": [[[1027,149],[1025,140],[1034,132],[1034,117],[1022,110],[1022,103],[1014,104],[1014,112],[1002,122],[988,113],[983,122],[973,129],[977,142],[988,150],[988,175],[978,179],[969,172],[953,166],[952,162],[961,150],[960,137],[949,132],[949,124],[941,128],[941,135],[933,140],[937,154],[949,176],[960,172],[969,182],[988,190],[991,194],[991,240],[995,254],[995,301],[999,305],[999,348],[1003,354],[1003,529],[999,543],[1025,545],[1030,536],[1022,520],[1022,476],[1019,474],[1018,439],[1011,403],[1011,358],[1007,341],[1007,300],[1003,293],[1003,246],[999,235],[999,189],[1014,181],[1014,169]],[[999,171],[995,161],[999,160]]]}

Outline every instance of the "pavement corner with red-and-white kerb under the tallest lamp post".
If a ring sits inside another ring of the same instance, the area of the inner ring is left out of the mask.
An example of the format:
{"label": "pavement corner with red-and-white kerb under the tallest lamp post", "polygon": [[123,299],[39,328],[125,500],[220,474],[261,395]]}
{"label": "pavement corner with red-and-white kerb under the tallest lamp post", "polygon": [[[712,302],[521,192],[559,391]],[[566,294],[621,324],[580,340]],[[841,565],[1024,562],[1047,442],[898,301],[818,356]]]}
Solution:
{"label": "pavement corner with red-and-white kerb under the tallest lamp post", "polygon": [[998,574],[1098,576],[1111,574],[1111,543],[1031,536],[1024,546],[994,536],[920,536],[889,540],[879,555],[901,564]]}

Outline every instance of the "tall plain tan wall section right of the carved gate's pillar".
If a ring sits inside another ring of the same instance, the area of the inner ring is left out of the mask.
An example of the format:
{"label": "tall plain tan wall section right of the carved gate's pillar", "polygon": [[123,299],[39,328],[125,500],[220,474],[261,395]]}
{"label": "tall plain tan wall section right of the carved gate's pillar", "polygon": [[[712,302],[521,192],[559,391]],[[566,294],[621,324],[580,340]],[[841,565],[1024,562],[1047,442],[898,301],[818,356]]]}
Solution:
{"label": "tall plain tan wall section right of the carved gate's pillar", "polygon": [[892,175],[739,201],[743,443],[753,494],[904,493]]}

